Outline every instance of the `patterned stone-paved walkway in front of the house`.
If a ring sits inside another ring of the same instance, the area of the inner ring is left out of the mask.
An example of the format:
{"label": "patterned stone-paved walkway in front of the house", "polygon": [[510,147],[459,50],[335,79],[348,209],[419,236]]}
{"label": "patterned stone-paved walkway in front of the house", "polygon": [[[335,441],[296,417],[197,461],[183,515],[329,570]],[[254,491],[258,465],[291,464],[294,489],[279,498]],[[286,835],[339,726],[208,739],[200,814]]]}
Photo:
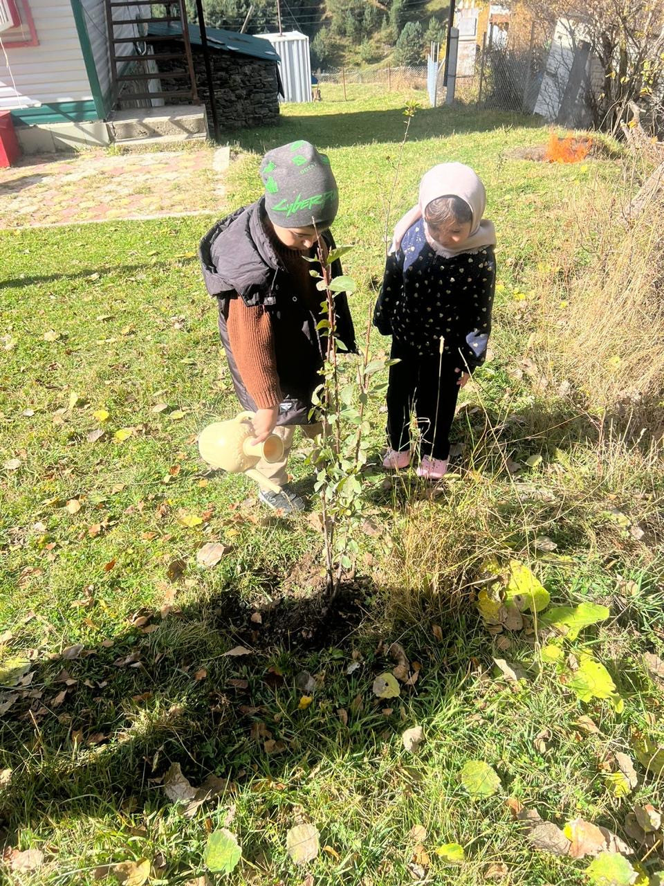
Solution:
{"label": "patterned stone-paved walkway in front of the house", "polygon": [[222,202],[227,157],[228,149],[208,147],[26,157],[0,168],[0,229],[213,213]]}

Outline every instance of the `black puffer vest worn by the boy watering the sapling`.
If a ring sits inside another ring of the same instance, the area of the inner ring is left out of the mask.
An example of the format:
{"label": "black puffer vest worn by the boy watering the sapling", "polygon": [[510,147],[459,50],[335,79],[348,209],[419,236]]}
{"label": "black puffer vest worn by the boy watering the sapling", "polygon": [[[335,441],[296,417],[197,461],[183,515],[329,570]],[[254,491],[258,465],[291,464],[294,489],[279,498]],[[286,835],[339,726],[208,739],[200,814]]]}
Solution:
{"label": "black puffer vest worn by the boy watering the sapling", "polygon": [[[334,239],[328,231],[323,239],[329,249]],[[264,200],[243,206],[205,234],[198,247],[203,279],[210,295],[219,303],[219,330],[233,385],[243,408],[256,411],[256,404],[240,377],[226,328],[229,299],[241,298],[247,307],[266,308],[274,334],[279,386],[283,400],[277,424],[307,424],[312,393],[320,385],[324,339],[314,315],[294,292],[290,276],[275,252],[266,231]],[[332,264],[332,276],[342,273],[341,262]],[[321,300],[323,296],[321,293]],[[346,350],[356,354],[355,332],[345,292],[335,298],[336,337]]]}

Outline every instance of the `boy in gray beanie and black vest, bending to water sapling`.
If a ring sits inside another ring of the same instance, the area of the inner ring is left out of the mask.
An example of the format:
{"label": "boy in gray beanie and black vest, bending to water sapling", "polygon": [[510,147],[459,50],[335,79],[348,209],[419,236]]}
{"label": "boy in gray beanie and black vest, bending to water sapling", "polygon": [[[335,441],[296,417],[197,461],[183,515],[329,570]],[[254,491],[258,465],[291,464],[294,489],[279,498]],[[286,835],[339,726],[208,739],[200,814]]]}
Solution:
{"label": "boy in gray beanie and black vest, bending to water sapling", "polygon": [[[325,154],[297,141],[266,153],[260,164],[265,195],[218,221],[201,240],[198,255],[207,291],[219,305],[220,337],[233,384],[244,409],[255,413],[256,441],[274,431],[284,443],[282,462],[258,470],[281,493],[261,488],[268,507],[291,513],[305,501],[288,485],[286,463],[296,424],[314,437],[312,394],[320,385],[327,339],[316,329],[321,293],[309,273],[320,266],[317,234],[327,251],[339,206],[335,177]],[[332,276],[342,273],[336,260]],[[336,337],[356,352],[344,292],[336,294]]]}

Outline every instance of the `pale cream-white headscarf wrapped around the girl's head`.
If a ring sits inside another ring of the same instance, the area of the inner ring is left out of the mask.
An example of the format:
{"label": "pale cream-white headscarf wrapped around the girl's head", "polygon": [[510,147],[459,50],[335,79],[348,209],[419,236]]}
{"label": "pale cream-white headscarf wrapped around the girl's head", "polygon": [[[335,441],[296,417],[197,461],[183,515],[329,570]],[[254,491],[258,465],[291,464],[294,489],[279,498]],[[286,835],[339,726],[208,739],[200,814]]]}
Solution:
{"label": "pale cream-white headscarf wrapped around the girl's head", "polygon": [[441,246],[429,234],[427,222],[424,222],[424,233],[432,249],[445,258],[452,258],[459,253],[472,253],[483,246],[496,245],[496,231],[493,222],[483,219],[486,208],[486,190],[479,175],[463,163],[439,163],[422,176],[420,183],[420,202],[403,215],[394,229],[394,237],[390,252],[396,252],[401,245],[405,232],[418,219],[423,218],[424,210],[432,200],[438,197],[459,197],[464,200],[473,214],[470,235],[459,246],[448,248]]}

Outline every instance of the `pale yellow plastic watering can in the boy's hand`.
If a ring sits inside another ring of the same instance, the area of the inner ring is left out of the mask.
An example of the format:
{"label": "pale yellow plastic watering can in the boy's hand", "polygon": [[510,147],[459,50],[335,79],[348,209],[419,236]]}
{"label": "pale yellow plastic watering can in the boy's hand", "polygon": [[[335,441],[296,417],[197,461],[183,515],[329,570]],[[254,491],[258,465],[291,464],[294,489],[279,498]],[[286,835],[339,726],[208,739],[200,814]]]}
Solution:
{"label": "pale yellow plastic watering can in the boy's hand", "polygon": [[271,464],[278,462],[283,456],[283,440],[270,434],[262,443],[251,443],[255,437],[251,425],[253,416],[252,412],[241,412],[228,422],[208,424],[198,434],[198,452],[212,468],[228,470],[231,474],[246,474],[260,486],[279,493],[281,488],[255,468],[261,458]]}

